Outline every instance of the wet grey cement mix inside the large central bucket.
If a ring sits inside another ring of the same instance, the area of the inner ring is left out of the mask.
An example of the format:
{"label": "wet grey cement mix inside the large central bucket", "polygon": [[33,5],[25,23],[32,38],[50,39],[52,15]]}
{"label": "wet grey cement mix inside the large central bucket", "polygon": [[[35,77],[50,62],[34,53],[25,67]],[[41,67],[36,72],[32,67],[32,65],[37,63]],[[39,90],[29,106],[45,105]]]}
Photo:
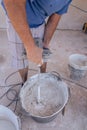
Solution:
{"label": "wet grey cement mix inside the large central bucket", "polygon": [[65,84],[61,81],[55,83],[52,77],[35,82],[32,80],[22,93],[22,105],[25,110],[31,115],[42,117],[50,116],[60,110],[64,104],[61,87]]}

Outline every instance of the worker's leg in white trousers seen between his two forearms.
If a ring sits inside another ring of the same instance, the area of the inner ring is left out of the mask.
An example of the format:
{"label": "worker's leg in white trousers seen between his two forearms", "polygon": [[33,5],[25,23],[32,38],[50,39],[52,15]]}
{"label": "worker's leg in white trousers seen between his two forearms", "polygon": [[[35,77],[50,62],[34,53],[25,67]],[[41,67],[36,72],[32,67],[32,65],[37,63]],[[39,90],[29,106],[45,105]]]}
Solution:
{"label": "worker's leg in white trousers seen between his two forearms", "polygon": [[50,58],[51,51],[48,48],[44,48],[43,36],[44,36],[45,24],[39,26],[38,28],[32,28],[31,33],[35,39],[35,43],[38,47],[43,48],[43,64],[40,67],[40,72],[45,73],[48,59]]}

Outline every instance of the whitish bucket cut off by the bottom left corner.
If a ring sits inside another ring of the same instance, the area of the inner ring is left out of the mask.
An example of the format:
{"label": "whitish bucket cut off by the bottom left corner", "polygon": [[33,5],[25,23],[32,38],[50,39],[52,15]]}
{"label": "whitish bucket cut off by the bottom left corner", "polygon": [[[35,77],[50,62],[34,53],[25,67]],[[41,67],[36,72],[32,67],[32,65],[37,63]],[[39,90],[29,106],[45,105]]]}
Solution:
{"label": "whitish bucket cut off by the bottom left corner", "polygon": [[0,130],[21,130],[20,119],[3,105],[0,105]]}

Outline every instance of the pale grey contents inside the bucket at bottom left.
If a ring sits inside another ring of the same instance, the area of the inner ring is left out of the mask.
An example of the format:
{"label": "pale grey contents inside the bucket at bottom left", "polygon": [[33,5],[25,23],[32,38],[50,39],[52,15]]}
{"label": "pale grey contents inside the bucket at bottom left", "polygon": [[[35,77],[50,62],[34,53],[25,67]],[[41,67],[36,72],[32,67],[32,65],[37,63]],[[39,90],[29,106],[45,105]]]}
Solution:
{"label": "pale grey contents inside the bucket at bottom left", "polygon": [[9,120],[0,119],[0,130],[16,130],[16,128]]}

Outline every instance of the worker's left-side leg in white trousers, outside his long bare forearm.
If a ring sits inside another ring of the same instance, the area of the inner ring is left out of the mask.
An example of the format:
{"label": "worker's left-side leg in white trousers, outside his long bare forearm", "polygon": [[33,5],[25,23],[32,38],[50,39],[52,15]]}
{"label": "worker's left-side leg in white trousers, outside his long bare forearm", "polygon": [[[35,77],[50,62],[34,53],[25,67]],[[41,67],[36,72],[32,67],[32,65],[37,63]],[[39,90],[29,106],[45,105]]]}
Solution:
{"label": "worker's left-side leg in white trousers, outside his long bare forearm", "polygon": [[26,51],[19,36],[15,32],[10,20],[7,18],[7,34],[9,40],[9,47],[11,50],[11,66],[19,71],[19,74],[25,82],[28,75],[28,60]]}

